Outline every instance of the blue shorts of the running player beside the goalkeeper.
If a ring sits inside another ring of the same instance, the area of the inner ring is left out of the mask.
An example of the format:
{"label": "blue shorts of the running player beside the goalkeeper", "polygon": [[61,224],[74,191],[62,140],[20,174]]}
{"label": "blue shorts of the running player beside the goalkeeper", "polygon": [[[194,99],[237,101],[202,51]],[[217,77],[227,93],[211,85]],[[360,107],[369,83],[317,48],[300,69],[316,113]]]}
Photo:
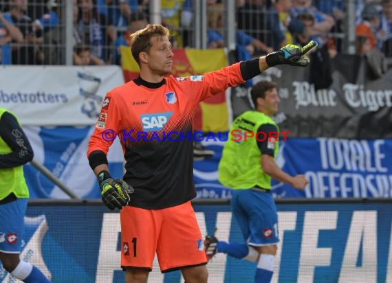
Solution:
{"label": "blue shorts of the running player beside the goalkeeper", "polygon": [[278,212],[271,193],[233,190],[231,205],[249,245],[259,247],[279,242]]}

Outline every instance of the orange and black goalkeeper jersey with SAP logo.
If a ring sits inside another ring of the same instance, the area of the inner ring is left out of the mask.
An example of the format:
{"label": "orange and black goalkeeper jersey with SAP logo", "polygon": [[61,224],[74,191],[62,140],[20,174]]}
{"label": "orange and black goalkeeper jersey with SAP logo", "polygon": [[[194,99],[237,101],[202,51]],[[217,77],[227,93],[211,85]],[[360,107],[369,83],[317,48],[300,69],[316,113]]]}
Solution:
{"label": "orange and black goalkeeper jersey with SAP logo", "polygon": [[107,154],[113,136],[124,152],[124,181],[135,188],[129,205],[172,207],[196,196],[193,115],[202,100],[243,84],[236,63],[204,76],[168,76],[152,84],[138,78],[107,93],[87,155]]}

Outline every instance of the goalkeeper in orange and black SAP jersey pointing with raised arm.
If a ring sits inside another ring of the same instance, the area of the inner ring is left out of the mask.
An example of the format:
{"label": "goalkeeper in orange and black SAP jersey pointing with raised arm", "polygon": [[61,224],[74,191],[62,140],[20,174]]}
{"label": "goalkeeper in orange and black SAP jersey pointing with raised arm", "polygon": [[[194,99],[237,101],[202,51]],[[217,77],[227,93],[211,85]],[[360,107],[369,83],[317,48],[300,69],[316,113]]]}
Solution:
{"label": "goalkeeper in orange and black SAP jersey pointing with raised arm", "polygon": [[[195,107],[268,67],[305,67],[309,64],[306,54],[315,47],[315,43],[303,48],[287,45],[219,71],[175,78],[166,27],[147,25],[131,35],[140,76],[107,93],[87,152],[102,200],[109,209],[120,209],[121,267],[127,283],[147,282],[155,253],[162,273],[181,270],[187,283],[207,282],[204,239],[190,203],[196,196]],[[109,131],[122,144],[126,161],[122,179],[113,179],[109,173],[107,152],[113,142],[107,138]],[[173,135],[167,138],[166,133]]]}

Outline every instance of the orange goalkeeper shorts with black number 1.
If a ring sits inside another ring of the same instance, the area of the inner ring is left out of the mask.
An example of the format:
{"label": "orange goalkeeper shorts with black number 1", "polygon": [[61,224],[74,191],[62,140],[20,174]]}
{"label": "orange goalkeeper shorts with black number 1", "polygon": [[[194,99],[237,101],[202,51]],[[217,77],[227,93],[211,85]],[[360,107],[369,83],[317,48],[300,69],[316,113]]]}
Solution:
{"label": "orange goalkeeper shorts with black number 1", "polygon": [[121,267],[152,270],[155,252],[162,273],[206,264],[204,240],[188,201],[161,210],[120,210]]}

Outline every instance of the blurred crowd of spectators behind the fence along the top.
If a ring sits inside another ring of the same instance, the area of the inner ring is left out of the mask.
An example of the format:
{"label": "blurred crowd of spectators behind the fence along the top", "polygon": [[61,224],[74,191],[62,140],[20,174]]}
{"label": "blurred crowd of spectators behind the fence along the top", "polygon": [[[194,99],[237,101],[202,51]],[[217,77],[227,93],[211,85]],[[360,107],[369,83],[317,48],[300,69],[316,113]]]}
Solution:
{"label": "blurred crowd of spectators behind the fence along the top", "polygon": [[[347,6],[355,2],[356,53],[392,56],[392,0],[236,0],[239,60],[311,38],[322,55],[347,52]],[[0,1],[2,65],[63,65],[72,44],[74,65],[120,64],[119,47],[151,19],[149,0],[72,0],[72,43],[65,42],[66,5],[55,0]],[[161,0],[162,24],[174,48],[195,47],[195,1]],[[224,47],[224,0],[208,0],[207,48]]]}

